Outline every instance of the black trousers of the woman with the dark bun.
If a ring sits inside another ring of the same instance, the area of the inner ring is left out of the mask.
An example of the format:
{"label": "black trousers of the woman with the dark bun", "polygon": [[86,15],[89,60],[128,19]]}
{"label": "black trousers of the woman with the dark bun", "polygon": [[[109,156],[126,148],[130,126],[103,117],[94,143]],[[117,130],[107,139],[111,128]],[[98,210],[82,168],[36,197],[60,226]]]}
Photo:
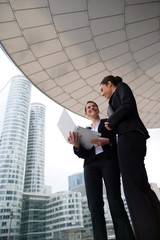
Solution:
{"label": "black trousers of the woman with the dark bun", "polygon": [[160,240],[160,202],[144,165],[146,139],[140,132],[118,137],[118,159],[136,240]]}

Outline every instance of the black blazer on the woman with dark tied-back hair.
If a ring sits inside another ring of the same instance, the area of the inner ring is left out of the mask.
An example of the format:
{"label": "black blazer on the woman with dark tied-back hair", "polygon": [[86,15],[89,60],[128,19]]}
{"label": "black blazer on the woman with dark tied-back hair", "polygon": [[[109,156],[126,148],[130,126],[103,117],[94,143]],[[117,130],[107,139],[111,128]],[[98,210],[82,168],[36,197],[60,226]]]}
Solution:
{"label": "black blazer on the woman with dark tied-back hair", "polygon": [[130,87],[121,82],[109,100],[113,114],[109,117],[109,126],[118,134],[141,131],[149,138],[147,129],[141,121],[135,98]]}

